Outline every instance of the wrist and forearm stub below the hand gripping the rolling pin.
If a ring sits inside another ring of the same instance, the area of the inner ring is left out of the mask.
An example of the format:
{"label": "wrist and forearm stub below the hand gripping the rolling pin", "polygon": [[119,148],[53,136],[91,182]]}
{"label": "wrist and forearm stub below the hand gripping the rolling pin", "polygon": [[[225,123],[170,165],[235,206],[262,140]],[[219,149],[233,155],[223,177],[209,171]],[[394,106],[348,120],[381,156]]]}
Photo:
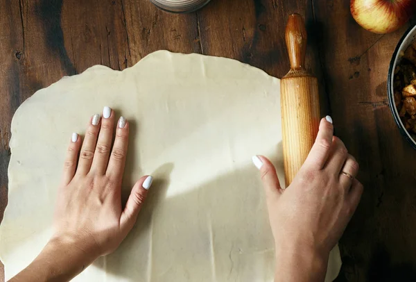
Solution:
{"label": "wrist and forearm stub below the hand gripping the rolling pin", "polygon": [[275,282],[323,282],[328,256],[302,248],[277,250]]}

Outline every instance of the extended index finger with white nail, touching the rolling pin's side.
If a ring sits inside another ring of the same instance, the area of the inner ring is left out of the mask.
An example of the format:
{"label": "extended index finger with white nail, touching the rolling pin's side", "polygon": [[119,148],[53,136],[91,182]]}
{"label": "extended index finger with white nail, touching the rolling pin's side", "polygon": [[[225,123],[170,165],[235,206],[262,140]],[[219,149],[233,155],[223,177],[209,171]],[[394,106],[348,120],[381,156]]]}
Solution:
{"label": "extended index finger with white nail, touching the rolling pin's side", "polygon": [[333,137],[333,125],[332,118],[327,115],[324,119],[321,119],[319,125],[318,135],[316,136],[315,143],[311,149],[311,152],[306,158],[304,165],[311,169],[320,170],[327,163],[329,151],[331,151]]}

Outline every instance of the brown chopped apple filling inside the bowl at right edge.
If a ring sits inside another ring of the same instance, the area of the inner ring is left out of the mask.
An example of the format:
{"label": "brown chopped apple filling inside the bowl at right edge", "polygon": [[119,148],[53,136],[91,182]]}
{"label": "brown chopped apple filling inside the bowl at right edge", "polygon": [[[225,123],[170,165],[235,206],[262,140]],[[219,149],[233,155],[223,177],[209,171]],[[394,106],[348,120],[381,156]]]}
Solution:
{"label": "brown chopped apple filling inside the bowl at right edge", "polygon": [[416,41],[395,68],[395,105],[406,130],[416,138]]}

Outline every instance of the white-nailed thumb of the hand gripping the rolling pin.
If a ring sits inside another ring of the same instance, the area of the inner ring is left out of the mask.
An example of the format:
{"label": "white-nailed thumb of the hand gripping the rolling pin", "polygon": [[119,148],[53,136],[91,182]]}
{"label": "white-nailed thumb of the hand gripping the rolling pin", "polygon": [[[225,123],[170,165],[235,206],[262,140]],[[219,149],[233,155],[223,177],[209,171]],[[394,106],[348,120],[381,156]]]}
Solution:
{"label": "white-nailed thumb of the hand gripping the rolling pin", "polygon": [[257,169],[260,170],[266,197],[268,199],[279,197],[283,190],[281,189],[275,166],[264,156],[253,156],[252,161]]}

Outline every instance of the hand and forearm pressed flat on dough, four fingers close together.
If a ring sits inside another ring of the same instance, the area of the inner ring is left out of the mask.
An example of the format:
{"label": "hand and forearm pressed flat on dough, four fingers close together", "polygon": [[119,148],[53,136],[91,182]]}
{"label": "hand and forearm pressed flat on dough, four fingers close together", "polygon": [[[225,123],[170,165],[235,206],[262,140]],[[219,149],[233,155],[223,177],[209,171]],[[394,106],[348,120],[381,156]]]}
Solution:
{"label": "hand and forearm pressed flat on dough, four fingers close together", "polygon": [[[113,142],[115,129],[115,138]],[[114,251],[135,225],[152,184],[143,176],[121,204],[129,122],[103,109],[89,119],[84,140],[73,133],[58,188],[55,233],[12,281],[69,281],[99,256]]]}

